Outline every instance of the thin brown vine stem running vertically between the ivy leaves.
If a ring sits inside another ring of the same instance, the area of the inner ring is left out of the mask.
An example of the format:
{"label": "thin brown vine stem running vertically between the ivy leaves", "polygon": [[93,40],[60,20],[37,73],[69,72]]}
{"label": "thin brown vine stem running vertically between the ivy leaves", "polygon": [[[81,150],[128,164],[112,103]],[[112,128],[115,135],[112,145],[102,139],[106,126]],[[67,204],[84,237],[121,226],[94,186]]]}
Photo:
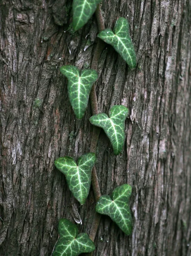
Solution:
{"label": "thin brown vine stem running vertically between the ivy leaves", "polygon": [[[99,31],[102,31],[103,29],[105,29],[105,26],[104,26],[104,20],[103,20],[100,4],[98,4],[98,6],[97,6],[95,15],[96,15],[96,18],[97,18],[98,29],[99,29]],[[100,59],[100,56],[103,52],[104,47],[105,47],[105,43],[101,39],[98,39],[97,46],[96,46],[96,49],[95,49],[95,52],[94,52],[94,57],[93,57],[92,62],[91,62],[91,68],[94,69],[94,70],[97,70],[98,62],[99,62],[99,59]],[[93,84],[91,92],[90,92],[90,102],[91,102],[92,114],[93,115],[98,114],[95,84]],[[90,151],[91,152],[96,153],[97,142],[98,142],[98,139],[99,139],[99,136],[100,136],[100,130],[101,129],[96,127],[96,126],[93,127],[93,132],[92,132],[92,137],[91,137],[91,145],[90,145]],[[99,186],[95,166],[94,166],[94,168],[92,169],[92,172],[91,172],[91,185],[92,185],[92,188],[94,190],[95,201],[97,202],[99,200],[100,196],[101,196],[101,192],[100,192],[100,186]],[[94,219],[93,219],[93,222],[92,222],[92,225],[91,225],[90,234],[89,234],[89,237],[91,238],[92,241],[94,241],[94,239],[95,239],[95,236],[96,236],[96,233],[97,233],[97,228],[98,228],[99,223],[100,223],[100,218],[101,218],[101,215],[98,214],[97,212],[95,212]],[[92,253],[88,254],[88,256],[91,256],[91,255],[92,255]]]}

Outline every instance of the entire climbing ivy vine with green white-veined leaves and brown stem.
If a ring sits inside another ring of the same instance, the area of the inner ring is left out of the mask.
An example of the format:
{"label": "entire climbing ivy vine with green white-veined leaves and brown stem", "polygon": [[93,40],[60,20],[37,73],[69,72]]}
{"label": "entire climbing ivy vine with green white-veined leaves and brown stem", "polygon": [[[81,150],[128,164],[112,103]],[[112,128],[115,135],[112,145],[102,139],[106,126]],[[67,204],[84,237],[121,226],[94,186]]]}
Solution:
{"label": "entire climbing ivy vine with green white-veined leaves and brown stem", "polygon": [[111,197],[101,195],[95,169],[97,141],[101,128],[108,136],[115,155],[120,154],[125,142],[125,119],[128,116],[128,108],[123,105],[114,105],[108,115],[98,113],[94,83],[97,80],[97,65],[105,43],[111,44],[131,69],[136,67],[136,55],[129,35],[128,21],[121,17],[117,20],[113,31],[105,29],[100,0],[73,0],[72,12],[74,31],[83,27],[94,12],[97,18],[99,29],[97,37],[99,39],[91,69],[80,71],[71,65],[60,68],[61,73],[68,79],[68,96],[77,119],[82,119],[84,116],[90,97],[93,116],[89,121],[94,126],[90,152],[80,156],[77,163],[72,157],[60,157],[55,160],[55,166],[66,176],[68,187],[80,204],[85,203],[92,184],[97,204],[89,236],[86,233],[78,234],[75,224],[67,219],[60,219],[59,239],[54,246],[52,256],[78,256],[80,253],[92,253],[95,250],[93,242],[101,215],[110,216],[127,235],[130,235],[132,230],[132,217],[129,208],[131,186],[128,184],[118,186],[114,189]]}

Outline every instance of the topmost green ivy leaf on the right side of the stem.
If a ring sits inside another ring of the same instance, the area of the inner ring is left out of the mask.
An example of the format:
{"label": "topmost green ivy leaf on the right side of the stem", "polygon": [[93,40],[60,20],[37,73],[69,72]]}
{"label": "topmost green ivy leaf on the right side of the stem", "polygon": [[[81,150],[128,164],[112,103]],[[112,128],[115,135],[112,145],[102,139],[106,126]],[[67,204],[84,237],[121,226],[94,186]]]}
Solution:
{"label": "topmost green ivy leaf on the right side of the stem", "polygon": [[114,32],[111,29],[105,29],[97,36],[105,43],[111,44],[130,68],[136,67],[136,54],[129,34],[128,21],[125,18],[122,17],[117,20]]}

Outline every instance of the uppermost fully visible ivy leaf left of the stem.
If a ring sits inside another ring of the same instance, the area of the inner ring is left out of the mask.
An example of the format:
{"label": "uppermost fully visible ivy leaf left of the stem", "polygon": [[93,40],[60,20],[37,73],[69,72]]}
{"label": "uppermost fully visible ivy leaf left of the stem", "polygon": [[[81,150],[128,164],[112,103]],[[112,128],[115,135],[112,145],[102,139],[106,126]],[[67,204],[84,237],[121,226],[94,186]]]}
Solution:
{"label": "uppermost fully visible ivy leaf left of the stem", "polygon": [[74,113],[78,119],[83,118],[88,105],[89,93],[97,80],[97,72],[91,69],[81,71],[77,67],[66,65],[60,68],[68,79],[68,96]]}

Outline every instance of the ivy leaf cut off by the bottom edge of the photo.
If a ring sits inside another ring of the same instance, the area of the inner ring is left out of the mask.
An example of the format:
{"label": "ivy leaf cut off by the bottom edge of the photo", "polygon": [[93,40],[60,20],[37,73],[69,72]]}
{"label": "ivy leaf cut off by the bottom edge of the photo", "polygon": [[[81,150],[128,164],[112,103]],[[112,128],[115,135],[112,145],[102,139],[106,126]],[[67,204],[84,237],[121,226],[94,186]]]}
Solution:
{"label": "ivy leaf cut off by the bottom edge of the photo", "polygon": [[67,219],[60,219],[58,224],[59,239],[52,256],[78,256],[80,253],[90,253],[95,245],[86,233],[78,235],[75,224]]}

